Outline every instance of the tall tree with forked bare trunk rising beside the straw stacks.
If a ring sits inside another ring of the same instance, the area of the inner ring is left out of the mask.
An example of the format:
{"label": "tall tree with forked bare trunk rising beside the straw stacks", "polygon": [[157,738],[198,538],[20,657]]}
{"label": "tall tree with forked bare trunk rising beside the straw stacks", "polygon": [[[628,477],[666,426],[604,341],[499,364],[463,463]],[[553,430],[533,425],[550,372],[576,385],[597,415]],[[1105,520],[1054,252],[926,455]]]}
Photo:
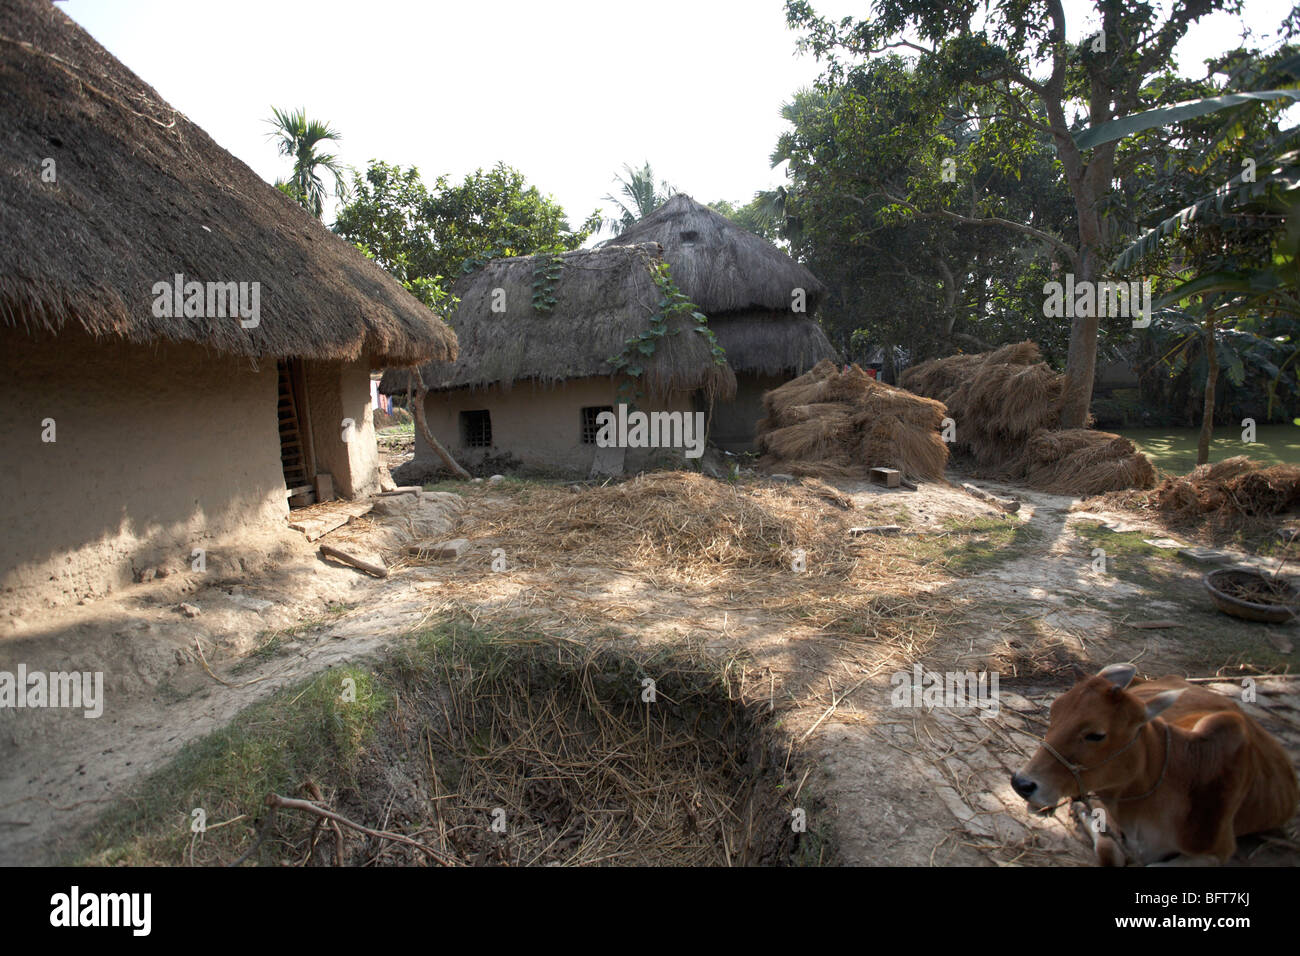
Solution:
{"label": "tall tree with forked bare trunk rising beside the straw stacks", "polygon": [[[1063,0],[875,0],[868,18],[842,21],[818,16],[807,0],[786,0],[785,9],[790,26],[805,31],[802,43],[827,61],[833,77],[862,69],[863,57],[906,49],[948,99],[993,107],[985,108],[980,137],[1002,143],[1004,159],[1017,143],[1046,137],[1072,200],[1074,235],[1001,215],[997,203],[958,212],[941,190],[922,202],[913,195],[892,199],[915,216],[1034,237],[1057,252],[1076,282],[1092,282],[1102,274],[1104,247],[1117,235],[1108,199],[1126,169],[1117,164],[1114,140],[1080,147],[1079,120],[1098,126],[1175,103],[1175,47],[1209,13],[1240,13],[1242,0],[1184,0],[1167,13],[1141,0],[1092,5],[1096,29],[1082,42],[1067,39]],[[1066,427],[1080,427],[1088,416],[1097,328],[1095,312],[1071,320]]]}

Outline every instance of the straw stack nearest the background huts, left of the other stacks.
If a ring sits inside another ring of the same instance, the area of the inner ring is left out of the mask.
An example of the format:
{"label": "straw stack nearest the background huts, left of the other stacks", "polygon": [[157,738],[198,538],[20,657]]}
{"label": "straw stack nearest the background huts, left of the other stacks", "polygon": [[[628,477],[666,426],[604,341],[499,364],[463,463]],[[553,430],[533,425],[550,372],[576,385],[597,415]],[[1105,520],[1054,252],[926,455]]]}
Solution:
{"label": "straw stack nearest the background huts, left of the other stacks", "polygon": [[841,372],[820,362],[763,395],[763,408],[760,468],[832,479],[864,479],[876,467],[913,480],[944,476],[944,406],[878,382],[857,365]]}

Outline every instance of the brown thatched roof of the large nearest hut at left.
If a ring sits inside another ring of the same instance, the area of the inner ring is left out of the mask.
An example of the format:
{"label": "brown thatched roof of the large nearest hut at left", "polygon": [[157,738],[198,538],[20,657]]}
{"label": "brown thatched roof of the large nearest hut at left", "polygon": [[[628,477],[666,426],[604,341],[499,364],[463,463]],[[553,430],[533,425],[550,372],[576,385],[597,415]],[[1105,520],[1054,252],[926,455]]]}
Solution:
{"label": "brown thatched roof of the large nearest hut at left", "polygon": [[[42,179],[46,157],[56,182]],[[9,325],[390,365],[456,354],[455,336],[398,282],[49,0],[0,4],[0,221]],[[176,273],[260,282],[260,325],[155,317],[153,285]]]}

